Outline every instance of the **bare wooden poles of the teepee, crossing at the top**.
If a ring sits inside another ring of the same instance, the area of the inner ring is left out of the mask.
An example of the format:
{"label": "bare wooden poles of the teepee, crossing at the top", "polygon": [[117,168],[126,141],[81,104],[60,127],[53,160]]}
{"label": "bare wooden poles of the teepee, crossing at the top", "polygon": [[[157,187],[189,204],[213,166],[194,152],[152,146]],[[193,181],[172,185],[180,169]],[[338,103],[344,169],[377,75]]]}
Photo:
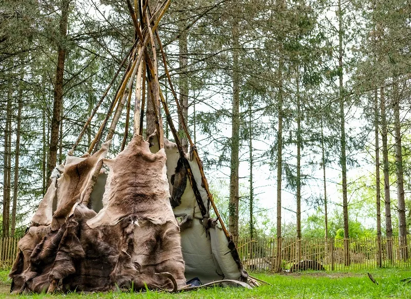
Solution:
{"label": "bare wooden poles of the teepee, crossing at the top", "polygon": [[[153,102],[154,106],[154,111],[155,111],[155,122],[156,122],[156,128],[157,128],[157,137],[159,140],[159,145],[160,148],[164,147],[164,142],[163,142],[163,125],[162,125],[162,118],[161,118],[161,110],[160,110],[160,102],[163,107],[164,114],[166,116],[166,121],[171,129],[171,132],[173,134],[175,143],[177,144],[178,152],[185,170],[188,174],[188,178],[190,181],[190,185],[194,191],[194,195],[198,204],[198,207],[200,209],[201,215],[203,218],[208,218],[208,211],[206,207],[204,206],[204,203],[202,201],[200,192],[198,190],[197,183],[194,178],[194,174],[191,170],[189,161],[185,159],[185,153],[181,144],[181,141],[178,137],[177,130],[174,126],[173,120],[171,118],[170,110],[167,105],[167,102],[164,98],[164,95],[160,89],[159,81],[158,81],[158,69],[157,69],[157,54],[156,54],[156,43],[154,41],[154,35],[157,40],[157,44],[161,53],[161,58],[164,66],[164,71],[165,75],[167,78],[167,81],[169,83],[170,89],[172,91],[173,98],[175,100],[176,106],[177,106],[177,113],[182,119],[182,126],[184,130],[184,134],[186,135],[188,142],[190,143],[192,155],[197,163],[198,169],[200,171],[201,175],[201,182],[203,185],[203,188],[207,192],[208,200],[211,203],[211,206],[213,207],[213,210],[217,216],[217,220],[220,223],[221,229],[225,233],[227,239],[228,239],[228,247],[230,249],[230,252],[238,266],[238,268],[241,270],[242,269],[242,264],[238,255],[237,248],[235,246],[234,240],[232,235],[228,232],[220,213],[218,212],[218,209],[215,205],[213,194],[210,192],[209,184],[206,175],[204,174],[204,169],[197,151],[197,147],[193,143],[193,140],[190,136],[188,127],[186,126],[184,116],[182,113],[181,106],[179,104],[178,98],[176,91],[173,87],[171,77],[170,77],[170,72],[167,67],[167,62],[166,62],[166,57],[164,53],[163,46],[160,41],[160,37],[158,34],[158,25],[159,22],[164,15],[164,13],[167,11],[167,9],[170,6],[171,0],[166,0],[161,2],[159,0],[156,3],[154,13],[152,13],[150,7],[148,6],[148,0],[134,0],[134,8],[132,4],[130,3],[129,0],[126,0],[127,3],[127,8],[130,13],[130,16],[132,17],[133,24],[135,27],[135,36],[134,36],[134,43],[133,46],[129,49],[128,53],[126,54],[125,58],[123,59],[119,69],[117,70],[113,80],[109,83],[107,86],[103,96],[101,97],[100,101],[92,110],[91,115],[87,119],[83,129],[80,132],[80,135],[78,136],[76,142],[74,142],[73,147],[69,151],[69,155],[72,155],[78,144],[80,143],[83,135],[85,134],[88,126],[90,125],[92,118],[95,116],[97,113],[97,110],[99,109],[100,105],[106,98],[110,88],[114,85],[114,82],[116,81],[120,71],[124,68],[124,65],[126,61],[128,60],[127,66],[125,68],[125,72],[123,74],[122,79],[120,80],[120,84],[117,88],[117,91],[115,93],[115,97],[110,103],[109,109],[107,111],[107,114],[100,125],[98,132],[95,136],[95,138],[92,140],[89,148],[88,148],[88,153],[91,152],[96,152],[99,144],[101,142],[101,138],[103,135],[103,132],[106,128],[107,122],[111,115],[114,113],[113,120],[111,121],[110,128],[108,129],[106,141],[113,138],[113,135],[115,133],[115,128],[117,126],[117,123],[119,121],[119,118],[122,114],[122,110],[124,107],[124,104],[127,102],[127,111],[129,111],[130,107],[130,100],[131,96],[133,93],[133,84],[134,84],[134,79],[136,78],[136,92],[135,92],[135,109],[134,109],[134,133],[138,135],[142,135],[142,128],[143,128],[143,117],[144,117],[144,106],[145,106],[145,91],[150,92],[151,99]],[[139,18],[139,20],[138,20]],[[150,44],[150,46],[148,45]],[[148,51],[148,49],[151,49],[151,53]],[[145,86],[145,81],[147,81],[147,89]],[[149,98],[149,97],[147,97]],[[126,143],[126,138],[128,134],[128,121],[129,121],[129,113],[126,115],[126,130],[124,133],[124,139],[122,142],[122,148],[124,149],[124,145]],[[94,188],[94,185],[97,181],[97,177],[101,171],[102,168],[102,161],[99,162],[97,169],[95,173],[92,176],[91,182],[88,186],[88,189],[86,191],[86,195],[84,196],[83,203],[87,204],[91,192]]]}

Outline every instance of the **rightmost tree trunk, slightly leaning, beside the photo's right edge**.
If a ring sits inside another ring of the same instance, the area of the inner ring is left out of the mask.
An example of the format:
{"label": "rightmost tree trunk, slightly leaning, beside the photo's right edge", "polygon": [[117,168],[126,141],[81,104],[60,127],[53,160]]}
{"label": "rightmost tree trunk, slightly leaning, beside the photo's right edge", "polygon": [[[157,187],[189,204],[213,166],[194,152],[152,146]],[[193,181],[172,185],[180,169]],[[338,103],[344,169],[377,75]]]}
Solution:
{"label": "rightmost tree trunk, slightly leaning, beside the photo's right edge", "polygon": [[401,258],[406,260],[407,254],[407,224],[405,218],[405,195],[404,195],[404,171],[402,165],[401,145],[401,121],[400,121],[400,99],[398,95],[398,84],[393,78],[394,97],[394,126],[395,126],[395,162],[397,174],[397,197],[398,197],[398,226]]}

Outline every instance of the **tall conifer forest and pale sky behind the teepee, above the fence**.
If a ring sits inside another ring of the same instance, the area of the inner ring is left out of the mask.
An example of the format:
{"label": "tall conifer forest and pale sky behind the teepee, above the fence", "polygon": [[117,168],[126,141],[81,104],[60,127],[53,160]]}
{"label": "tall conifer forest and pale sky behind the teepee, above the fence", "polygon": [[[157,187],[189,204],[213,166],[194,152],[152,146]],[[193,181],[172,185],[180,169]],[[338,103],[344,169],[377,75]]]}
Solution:
{"label": "tall conifer forest and pale sky behind the teepee, above the fence", "polygon": [[[234,236],[408,234],[410,14],[400,0],[172,2],[159,34]],[[120,0],[0,4],[3,236],[24,233],[51,170],[133,44],[133,30]],[[161,62],[159,79],[181,131]],[[97,111],[77,155],[108,106]],[[153,120],[150,107],[145,117]],[[120,151],[124,128],[125,118],[110,156]]]}

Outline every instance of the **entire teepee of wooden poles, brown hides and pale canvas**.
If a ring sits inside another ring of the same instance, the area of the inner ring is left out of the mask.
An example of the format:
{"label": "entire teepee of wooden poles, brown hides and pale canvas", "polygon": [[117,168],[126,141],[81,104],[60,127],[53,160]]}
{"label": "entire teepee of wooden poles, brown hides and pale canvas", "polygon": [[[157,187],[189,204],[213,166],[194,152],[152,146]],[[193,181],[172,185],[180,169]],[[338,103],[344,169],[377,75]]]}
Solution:
{"label": "entire teepee of wooden poles, brown hides and pale canvas", "polygon": [[[159,88],[155,38],[182,118],[157,32],[171,0],[158,2],[153,12],[146,0],[136,1],[134,8],[126,2],[136,40],[65,163],[51,174],[47,193],[18,243],[10,273],[11,291],[148,288],[176,292],[196,288],[193,281],[203,286],[256,286],[219,216],[188,129],[184,126],[191,151],[185,154]],[[126,63],[116,96],[88,153],[73,156]],[[157,125],[148,140],[142,137],[146,91],[151,94],[147,98],[153,101]],[[107,159],[117,122],[125,104],[129,109],[133,92],[133,138],[125,146],[125,134],[122,151]],[[160,104],[175,143],[163,136]],[[109,119],[107,138],[100,146]],[[216,219],[210,217],[210,209],[214,209]]]}

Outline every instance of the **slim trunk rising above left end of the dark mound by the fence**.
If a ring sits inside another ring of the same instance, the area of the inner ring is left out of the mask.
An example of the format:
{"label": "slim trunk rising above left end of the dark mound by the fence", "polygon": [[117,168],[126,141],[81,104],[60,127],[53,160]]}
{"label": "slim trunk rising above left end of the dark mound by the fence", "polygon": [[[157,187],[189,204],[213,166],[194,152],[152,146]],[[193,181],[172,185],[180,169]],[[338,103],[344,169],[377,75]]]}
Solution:
{"label": "slim trunk rising above left end of the dark mound by the fence", "polygon": [[298,80],[298,69],[296,71],[297,87],[297,239],[301,239],[301,103],[300,103],[300,81]]}

